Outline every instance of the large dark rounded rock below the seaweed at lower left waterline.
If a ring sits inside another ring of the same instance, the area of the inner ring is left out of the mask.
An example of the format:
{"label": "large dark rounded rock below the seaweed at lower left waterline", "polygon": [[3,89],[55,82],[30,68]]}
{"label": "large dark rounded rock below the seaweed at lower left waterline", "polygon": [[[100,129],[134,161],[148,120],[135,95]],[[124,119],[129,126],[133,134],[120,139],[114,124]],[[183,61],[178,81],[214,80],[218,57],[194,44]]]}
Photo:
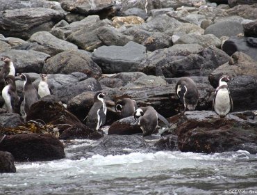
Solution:
{"label": "large dark rounded rock below the seaweed at lower left waterline", "polygon": [[8,135],[0,144],[0,150],[12,153],[15,161],[32,162],[65,157],[64,146],[50,134]]}

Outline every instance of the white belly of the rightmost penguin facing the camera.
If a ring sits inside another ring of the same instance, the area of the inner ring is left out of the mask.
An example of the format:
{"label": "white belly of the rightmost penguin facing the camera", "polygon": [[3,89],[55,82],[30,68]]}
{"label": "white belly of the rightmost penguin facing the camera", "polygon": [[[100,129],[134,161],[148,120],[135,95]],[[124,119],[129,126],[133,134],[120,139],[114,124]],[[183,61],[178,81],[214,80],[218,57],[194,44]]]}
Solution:
{"label": "white belly of the rightmost penguin facing the camera", "polygon": [[219,116],[226,116],[231,109],[229,91],[226,88],[219,89],[214,103],[214,110]]}

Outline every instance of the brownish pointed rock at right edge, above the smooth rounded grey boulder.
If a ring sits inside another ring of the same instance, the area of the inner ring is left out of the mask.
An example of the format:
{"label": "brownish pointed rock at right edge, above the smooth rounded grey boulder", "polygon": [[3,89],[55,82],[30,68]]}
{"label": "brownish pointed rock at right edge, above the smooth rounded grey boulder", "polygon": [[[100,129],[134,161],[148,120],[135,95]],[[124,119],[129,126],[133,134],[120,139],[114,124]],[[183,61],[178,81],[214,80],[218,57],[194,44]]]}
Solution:
{"label": "brownish pointed rock at right edge, above the smooth rounded grey boulder", "polygon": [[253,5],[238,5],[229,10],[226,10],[227,15],[239,15],[244,19],[256,20],[257,19],[257,3]]}

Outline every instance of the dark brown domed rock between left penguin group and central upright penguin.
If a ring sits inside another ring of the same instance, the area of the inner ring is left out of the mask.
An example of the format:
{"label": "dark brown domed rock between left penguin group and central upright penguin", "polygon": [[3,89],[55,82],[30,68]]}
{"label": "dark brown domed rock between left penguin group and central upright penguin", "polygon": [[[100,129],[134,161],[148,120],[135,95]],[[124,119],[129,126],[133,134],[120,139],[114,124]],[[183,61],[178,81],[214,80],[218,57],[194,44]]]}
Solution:
{"label": "dark brown domed rock between left penguin group and central upright penguin", "polygon": [[72,125],[81,123],[74,114],[63,107],[63,104],[51,100],[40,100],[32,104],[26,116],[26,121],[29,120],[42,120],[46,124],[56,125],[59,130],[66,130]]}

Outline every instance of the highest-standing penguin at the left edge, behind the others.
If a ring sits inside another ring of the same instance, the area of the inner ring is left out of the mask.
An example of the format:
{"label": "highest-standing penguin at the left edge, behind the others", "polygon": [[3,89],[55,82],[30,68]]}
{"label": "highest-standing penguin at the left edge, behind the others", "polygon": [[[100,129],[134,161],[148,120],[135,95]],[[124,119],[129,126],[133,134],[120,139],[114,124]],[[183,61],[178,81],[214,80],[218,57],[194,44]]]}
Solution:
{"label": "highest-standing penguin at the left edge, behind the others", "polygon": [[13,65],[13,61],[8,56],[1,57],[1,61],[4,62],[3,67],[0,71],[0,90],[6,86],[5,77],[7,75],[13,75],[15,77],[15,66]]}

